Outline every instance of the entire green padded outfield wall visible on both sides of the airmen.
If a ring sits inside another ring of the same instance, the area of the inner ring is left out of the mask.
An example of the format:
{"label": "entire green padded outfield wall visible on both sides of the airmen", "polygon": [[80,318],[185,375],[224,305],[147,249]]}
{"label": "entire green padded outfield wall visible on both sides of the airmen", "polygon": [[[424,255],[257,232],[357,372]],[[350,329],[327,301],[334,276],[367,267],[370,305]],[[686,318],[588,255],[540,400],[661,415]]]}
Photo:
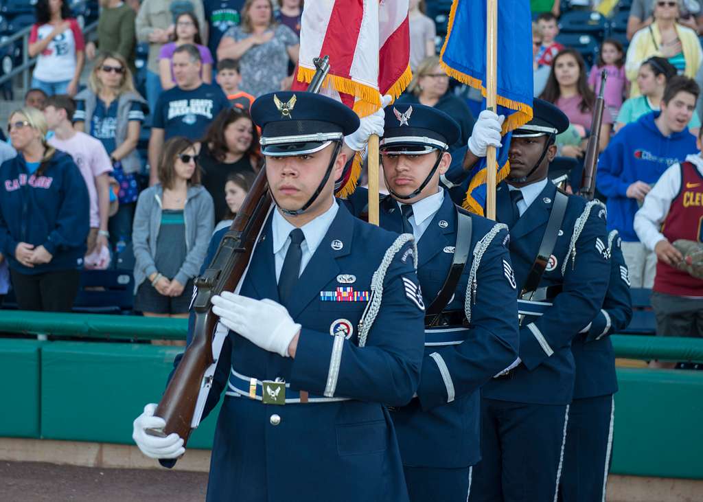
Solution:
{"label": "entire green padded outfield wall visible on both sides of the airmen", "polygon": [[[182,347],[0,339],[0,437],[133,444]],[[703,479],[703,372],[618,368],[612,472]],[[189,446],[212,446],[219,409]]]}

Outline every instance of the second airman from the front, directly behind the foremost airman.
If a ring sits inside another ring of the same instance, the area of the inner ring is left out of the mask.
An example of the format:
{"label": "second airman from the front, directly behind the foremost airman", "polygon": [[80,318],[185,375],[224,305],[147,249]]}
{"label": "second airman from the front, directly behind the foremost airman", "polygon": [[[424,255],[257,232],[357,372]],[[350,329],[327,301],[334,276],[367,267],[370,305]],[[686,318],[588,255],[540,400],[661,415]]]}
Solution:
{"label": "second airman from the front, directly behind the foremost airman", "polygon": [[[507,227],[465,212],[439,187],[458,134],[456,122],[432,107],[385,110],[380,153],[389,195],[380,226],[418,241],[427,314],[417,397],[391,413],[413,502],[467,500],[481,456],[480,387],[517,356]],[[367,200],[357,188],[348,202],[361,214]]]}

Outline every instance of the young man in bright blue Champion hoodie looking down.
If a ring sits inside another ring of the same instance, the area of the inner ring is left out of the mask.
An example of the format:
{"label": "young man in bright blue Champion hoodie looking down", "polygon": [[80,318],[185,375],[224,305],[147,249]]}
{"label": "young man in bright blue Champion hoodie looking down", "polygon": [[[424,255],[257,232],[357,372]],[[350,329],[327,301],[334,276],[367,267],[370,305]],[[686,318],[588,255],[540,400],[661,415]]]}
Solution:
{"label": "young man in bright blue Champion hoodie looking down", "polygon": [[633,229],[635,213],[669,166],[698,151],[687,127],[698,95],[693,79],[673,77],[664,89],[661,111],[627,124],[600,154],[597,186],[608,198],[608,231],[617,230],[622,238],[632,288],[652,288],[657,265],[657,256]]}

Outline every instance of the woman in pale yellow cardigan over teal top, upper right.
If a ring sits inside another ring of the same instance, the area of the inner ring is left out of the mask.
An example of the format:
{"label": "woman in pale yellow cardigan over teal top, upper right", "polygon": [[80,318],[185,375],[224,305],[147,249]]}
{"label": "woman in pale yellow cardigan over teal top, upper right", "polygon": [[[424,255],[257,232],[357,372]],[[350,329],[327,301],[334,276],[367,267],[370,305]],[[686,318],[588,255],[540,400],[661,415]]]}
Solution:
{"label": "woman in pale yellow cardigan over teal top, upper right", "polygon": [[625,61],[631,98],[640,95],[638,72],[642,63],[652,56],[669,60],[678,75],[696,76],[703,62],[701,44],[694,30],[678,22],[679,17],[678,0],[654,0],[654,21],[632,37]]}

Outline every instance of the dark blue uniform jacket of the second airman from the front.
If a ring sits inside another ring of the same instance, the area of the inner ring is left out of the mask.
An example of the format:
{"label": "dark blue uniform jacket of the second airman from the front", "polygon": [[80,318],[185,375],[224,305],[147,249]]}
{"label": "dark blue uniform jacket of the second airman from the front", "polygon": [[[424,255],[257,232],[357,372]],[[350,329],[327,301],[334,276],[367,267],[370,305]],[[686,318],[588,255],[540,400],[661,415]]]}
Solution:
{"label": "dark blue uniform jacket of the second airman from the front", "polygon": [[[418,278],[425,306],[437,297],[449,274],[457,238],[456,206],[445,192],[444,202],[418,242]],[[349,205],[356,214],[368,192],[357,189]],[[401,211],[396,201],[381,202],[380,226],[400,233]],[[470,325],[446,326],[425,332],[425,357],[418,399],[396,408],[392,418],[404,465],[460,468],[481,458],[480,392],[482,385],[517,356],[517,302],[508,232],[496,223],[470,214],[470,255],[456,292],[446,310],[465,312],[465,295],[472,262],[482,240],[486,244],[475,273],[470,300]],[[484,238],[485,237],[485,238]]]}

